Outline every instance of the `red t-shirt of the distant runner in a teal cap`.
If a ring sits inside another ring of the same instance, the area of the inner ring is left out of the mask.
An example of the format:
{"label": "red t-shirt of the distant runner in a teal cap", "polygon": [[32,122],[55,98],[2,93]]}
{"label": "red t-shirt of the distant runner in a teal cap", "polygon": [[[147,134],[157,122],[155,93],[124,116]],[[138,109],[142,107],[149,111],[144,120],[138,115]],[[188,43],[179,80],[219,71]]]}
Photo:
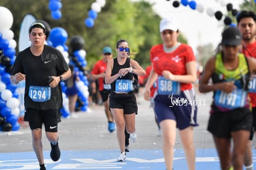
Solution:
{"label": "red t-shirt of the distant runner in a teal cap", "polygon": [[[103,59],[101,59],[100,61],[97,61],[92,69],[92,74],[101,74],[103,72],[106,72],[106,62],[103,61]],[[100,77],[99,78],[99,90],[102,91],[104,90],[104,78]]]}

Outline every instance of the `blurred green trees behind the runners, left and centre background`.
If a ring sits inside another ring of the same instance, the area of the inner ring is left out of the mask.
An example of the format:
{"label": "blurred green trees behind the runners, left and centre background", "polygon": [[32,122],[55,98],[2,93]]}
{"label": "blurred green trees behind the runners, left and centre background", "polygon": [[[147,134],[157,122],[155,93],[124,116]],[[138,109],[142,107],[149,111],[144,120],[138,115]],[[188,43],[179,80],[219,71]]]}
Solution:
{"label": "blurred green trees behind the runners, left and centre background", "polygon": [[[94,0],[66,0],[62,2],[62,17],[54,20],[49,10],[49,1],[33,0],[1,0],[0,6],[7,7],[14,17],[11,30],[14,40],[19,41],[20,23],[25,14],[33,14],[36,19],[45,20],[51,28],[62,27],[66,30],[69,40],[74,35],[82,36],[85,40],[84,49],[87,51],[87,64],[90,69],[101,59],[104,46],[116,47],[119,39],[129,42],[131,52],[137,52],[135,59],[144,67],[150,64],[149,52],[153,45],[161,43],[159,33],[160,16],[155,14],[152,5],[145,1],[130,2],[129,0],[106,1],[105,7],[98,13],[92,28],[85,26],[85,19]],[[184,43],[186,38],[180,36]],[[72,52],[72,51],[70,51]]]}

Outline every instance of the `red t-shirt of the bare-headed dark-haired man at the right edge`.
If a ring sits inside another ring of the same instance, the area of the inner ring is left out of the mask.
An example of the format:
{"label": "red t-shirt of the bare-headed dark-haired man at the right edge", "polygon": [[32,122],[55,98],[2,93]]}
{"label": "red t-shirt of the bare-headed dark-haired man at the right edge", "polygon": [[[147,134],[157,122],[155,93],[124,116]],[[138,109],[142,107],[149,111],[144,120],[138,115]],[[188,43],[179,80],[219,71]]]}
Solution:
{"label": "red t-shirt of the bare-headed dark-haired man at the right edge", "polygon": [[[256,41],[252,44],[246,45],[242,47],[242,53],[247,57],[256,58]],[[256,107],[256,93],[249,93],[250,102],[252,103],[252,107]]]}

